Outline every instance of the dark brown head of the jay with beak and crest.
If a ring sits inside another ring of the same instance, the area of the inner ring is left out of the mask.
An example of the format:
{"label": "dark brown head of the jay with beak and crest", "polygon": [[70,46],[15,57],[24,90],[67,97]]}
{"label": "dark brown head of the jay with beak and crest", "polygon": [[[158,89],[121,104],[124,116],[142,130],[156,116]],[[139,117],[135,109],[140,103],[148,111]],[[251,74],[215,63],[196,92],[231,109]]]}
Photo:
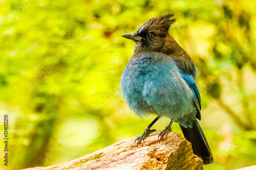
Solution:
{"label": "dark brown head of the jay with beak and crest", "polygon": [[165,45],[165,38],[169,35],[170,25],[175,19],[174,14],[166,14],[151,18],[138,28],[135,33],[123,34],[122,37],[135,41],[135,52],[158,51]]}

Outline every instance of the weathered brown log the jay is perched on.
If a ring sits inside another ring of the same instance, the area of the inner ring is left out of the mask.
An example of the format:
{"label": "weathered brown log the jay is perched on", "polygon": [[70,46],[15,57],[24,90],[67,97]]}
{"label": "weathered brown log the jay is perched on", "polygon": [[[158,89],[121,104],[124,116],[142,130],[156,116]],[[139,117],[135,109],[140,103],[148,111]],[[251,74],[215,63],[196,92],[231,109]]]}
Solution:
{"label": "weathered brown log the jay is perched on", "polygon": [[193,154],[191,143],[178,133],[170,132],[168,138],[159,143],[160,131],[151,133],[136,147],[138,136],[121,140],[109,147],[70,162],[47,167],[26,168],[26,170],[53,169],[203,169],[203,161]]}

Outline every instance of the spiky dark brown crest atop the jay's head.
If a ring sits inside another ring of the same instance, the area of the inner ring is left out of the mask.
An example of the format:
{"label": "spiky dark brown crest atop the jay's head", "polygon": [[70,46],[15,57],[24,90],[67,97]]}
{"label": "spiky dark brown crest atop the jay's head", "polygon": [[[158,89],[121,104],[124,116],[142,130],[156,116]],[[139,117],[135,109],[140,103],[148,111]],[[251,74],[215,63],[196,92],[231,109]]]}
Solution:
{"label": "spiky dark brown crest atop the jay's head", "polygon": [[170,19],[174,14],[168,13],[159,17],[153,17],[138,28],[137,33],[154,31],[159,34],[168,34],[170,25],[175,22],[176,18]]}

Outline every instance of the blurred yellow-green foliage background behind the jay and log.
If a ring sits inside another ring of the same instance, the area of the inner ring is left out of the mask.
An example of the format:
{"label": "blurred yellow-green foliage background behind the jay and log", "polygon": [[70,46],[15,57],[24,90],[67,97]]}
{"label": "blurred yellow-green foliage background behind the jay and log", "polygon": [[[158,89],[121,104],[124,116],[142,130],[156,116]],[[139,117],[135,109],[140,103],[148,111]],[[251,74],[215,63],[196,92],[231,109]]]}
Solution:
{"label": "blurred yellow-green foliage background behind the jay and log", "polygon": [[[256,164],[255,1],[2,0],[0,6],[0,133],[8,114],[10,169],[67,162],[141,134],[155,116],[139,119],[122,100],[120,78],[134,43],[120,35],[169,12],[178,18],[170,34],[199,70],[200,124],[214,154],[205,169]],[[168,123],[161,118],[153,128]],[[173,131],[181,133],[177,124]]]}

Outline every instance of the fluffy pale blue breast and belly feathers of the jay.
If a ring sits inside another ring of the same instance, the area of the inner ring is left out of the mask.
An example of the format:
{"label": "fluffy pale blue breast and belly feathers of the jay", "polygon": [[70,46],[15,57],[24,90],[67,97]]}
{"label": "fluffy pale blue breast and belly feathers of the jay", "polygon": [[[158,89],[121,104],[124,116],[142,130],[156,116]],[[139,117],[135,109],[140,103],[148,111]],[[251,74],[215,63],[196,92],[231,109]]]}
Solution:
{"label": "fluffy pale blue breast and belly feathers of the jay", "polygon": [[167,55],[143,52],[133,56],[125,67],[120,89],[137,116],[153,113],[191,127],[197,114],[192,79],[183,75]]}

